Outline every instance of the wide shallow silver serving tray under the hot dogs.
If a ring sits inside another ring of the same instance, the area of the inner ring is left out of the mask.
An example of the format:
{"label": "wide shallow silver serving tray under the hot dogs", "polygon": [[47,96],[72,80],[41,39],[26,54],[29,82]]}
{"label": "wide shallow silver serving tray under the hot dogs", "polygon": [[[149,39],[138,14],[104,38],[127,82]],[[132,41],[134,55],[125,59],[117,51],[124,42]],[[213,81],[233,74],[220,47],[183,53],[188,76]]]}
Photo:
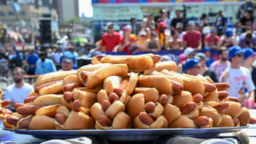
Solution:
{"label": "wide shallow silver serving tray under the hot dogs", "polygon": [[129,141],[129,140],[154,140],[162,135],[167,136],[188,136],[193,138],[213,138],[220,133],[230,133],[241,131],[240,127],[223,127],[223,128],[156,128],[156,129],[114,129],[114,130],[14,130],[4,128],[6,131],[13,131],[14,133],[33,135],[35,138],[44,139],[67,139],[78,138],[82,136],[88,137],[102,137],[106,140],[114,141]]}

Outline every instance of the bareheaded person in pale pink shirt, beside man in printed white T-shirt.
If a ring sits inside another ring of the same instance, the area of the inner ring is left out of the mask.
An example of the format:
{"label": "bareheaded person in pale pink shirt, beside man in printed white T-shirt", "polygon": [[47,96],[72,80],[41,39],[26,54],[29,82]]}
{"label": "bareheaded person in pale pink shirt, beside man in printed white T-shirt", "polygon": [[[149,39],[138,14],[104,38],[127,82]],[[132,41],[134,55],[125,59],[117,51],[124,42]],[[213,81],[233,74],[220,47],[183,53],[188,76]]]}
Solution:
{"label": "bareheaded person in pale pink shirt, beside man in printed white T-shirt", "polygon": [[228,61],[228,49],[225,47],[221,47],[218,50],[219,60],[216,60],[210,65],[210,70],[216,72],[218,79],[220,79],[220,75],[224,72],[224,70],[230,67],[230,61]]}

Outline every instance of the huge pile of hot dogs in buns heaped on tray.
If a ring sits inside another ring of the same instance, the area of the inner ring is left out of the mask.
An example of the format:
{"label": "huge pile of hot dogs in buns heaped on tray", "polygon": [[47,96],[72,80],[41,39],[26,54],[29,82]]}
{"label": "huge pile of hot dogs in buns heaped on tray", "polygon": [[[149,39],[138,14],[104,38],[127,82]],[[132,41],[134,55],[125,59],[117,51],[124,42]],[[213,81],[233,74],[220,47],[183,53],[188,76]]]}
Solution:
{"label": "huge pile of hot dogs in buns heaped on tray", "polygon": [[16,129],[246,126],[250,113],[229,84],[176,73],[159,55],[97,55],[77,71],[43,74],[4,121]]}

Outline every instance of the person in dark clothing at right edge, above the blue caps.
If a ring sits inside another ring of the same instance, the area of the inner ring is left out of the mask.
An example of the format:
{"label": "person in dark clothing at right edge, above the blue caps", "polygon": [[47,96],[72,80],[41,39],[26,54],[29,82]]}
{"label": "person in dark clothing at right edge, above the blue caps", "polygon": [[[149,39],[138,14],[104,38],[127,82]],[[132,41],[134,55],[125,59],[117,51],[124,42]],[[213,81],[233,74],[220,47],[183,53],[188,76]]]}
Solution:
{"label": "person in dark clothing at right edge, above the blue caps", "polygon": [[245,35],[245,38],[239,40],[238,45],[241,48],[256,48],[256,37],[252,38],[252,33],[248,32]]}

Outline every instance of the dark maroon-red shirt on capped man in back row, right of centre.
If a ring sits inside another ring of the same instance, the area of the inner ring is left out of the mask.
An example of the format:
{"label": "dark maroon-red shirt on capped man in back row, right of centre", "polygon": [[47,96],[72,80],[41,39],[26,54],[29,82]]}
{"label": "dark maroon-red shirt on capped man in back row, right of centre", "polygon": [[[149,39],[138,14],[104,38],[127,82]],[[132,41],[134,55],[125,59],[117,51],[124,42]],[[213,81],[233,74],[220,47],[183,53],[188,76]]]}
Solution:
{"label": "dark maroon-red shirt on capped man in back row, right of centre", "polygon": [[198,40],[202,40],[201,33],[199,31],[193,31],[192,33],[187,31],[183,35],[183,41],[186,41],[187,47],[198,48]]}

